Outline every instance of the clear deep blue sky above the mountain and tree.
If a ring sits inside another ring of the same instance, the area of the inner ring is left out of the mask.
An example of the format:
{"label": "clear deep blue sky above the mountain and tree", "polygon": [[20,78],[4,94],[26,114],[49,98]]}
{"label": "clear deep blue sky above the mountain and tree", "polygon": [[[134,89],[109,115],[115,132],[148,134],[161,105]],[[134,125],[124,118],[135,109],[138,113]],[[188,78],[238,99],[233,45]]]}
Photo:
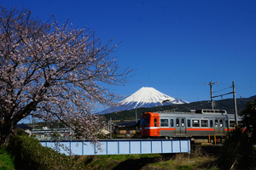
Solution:
{"label": "clear deep blue sky above the mountain and tree", "polygon": [[[30,8],[34,16],[73,27],[87,26],[102,43],[113,38],[113,56],[123,68],[137,69],[125,86],[128,96],[139,88],[189,102],[232,92],[256,94],[256,1],[224,0],[0,0],[5,8]],[[228,88],[224,91],[219,91]],[[232,98],[232,94],[224,99]],[[216,98],[221,99],[221,98]]]}

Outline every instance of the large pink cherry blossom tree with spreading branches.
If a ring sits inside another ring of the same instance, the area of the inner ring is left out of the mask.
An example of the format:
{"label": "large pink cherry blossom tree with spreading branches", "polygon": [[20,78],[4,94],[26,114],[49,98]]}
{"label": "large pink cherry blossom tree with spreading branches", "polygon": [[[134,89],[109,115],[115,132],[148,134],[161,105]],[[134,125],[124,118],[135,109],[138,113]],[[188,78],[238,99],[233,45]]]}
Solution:
{"label": "large pink cherry blossom tree with spreading branches", "polygon": [[121,69],[94,31],[43,22],[26,8],[0,7],[0,144],[27,116],[63,122],[80,138],[96,140],[104,126],[92,114],[97,105],[119,99],[108,85],[124,85]]}

